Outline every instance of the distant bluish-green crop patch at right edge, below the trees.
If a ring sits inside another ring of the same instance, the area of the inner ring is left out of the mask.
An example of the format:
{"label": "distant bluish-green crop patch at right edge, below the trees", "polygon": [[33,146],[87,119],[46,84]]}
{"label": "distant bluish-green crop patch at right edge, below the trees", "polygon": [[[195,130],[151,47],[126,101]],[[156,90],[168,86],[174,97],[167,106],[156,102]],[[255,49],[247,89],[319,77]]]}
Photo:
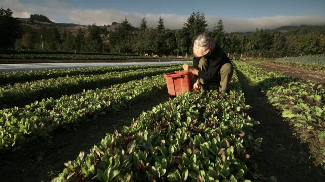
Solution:
{"label": "distant bluish-green crop patch at right edge, below the trees", "polygon": [[301,56],[301,57],[284,57],[284,58],[277,58],[276,61],[325,64],[325,55],[307,55],[307,56]]}

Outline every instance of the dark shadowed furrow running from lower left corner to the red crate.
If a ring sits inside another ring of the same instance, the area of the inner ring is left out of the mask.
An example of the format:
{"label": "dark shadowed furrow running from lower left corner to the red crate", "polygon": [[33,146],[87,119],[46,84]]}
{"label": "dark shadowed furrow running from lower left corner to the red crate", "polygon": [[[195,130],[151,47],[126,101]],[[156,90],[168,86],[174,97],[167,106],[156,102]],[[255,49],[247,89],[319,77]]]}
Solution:
{"label": "dark shadowed furrow running from lower left corner to the red crate", "polygon": [[79,127],[56,131],[49,139],[30,143],[21,149],[0,154],[0,181],[49,181],[64,169],[64,162],[75,160],[80,151],[86,154],[100,143],[106,133],[119,130],[143,111],[168,101],[167,89],[139,99],[119,112],[109,112]]}

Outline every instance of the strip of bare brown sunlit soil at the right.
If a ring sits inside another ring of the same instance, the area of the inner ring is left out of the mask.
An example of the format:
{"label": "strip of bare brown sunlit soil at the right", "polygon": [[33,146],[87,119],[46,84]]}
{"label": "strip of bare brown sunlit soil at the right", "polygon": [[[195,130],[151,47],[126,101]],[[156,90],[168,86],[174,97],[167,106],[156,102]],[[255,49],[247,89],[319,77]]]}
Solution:
{"label": "strip of bare brown sunlit soil at the right", "polygon": [[317,71],[308,71],[303,70],[300,68],[293,68],[289,66],[284,65],[278,65],[274,63],[258,63],[258,62],[251,62],[251,61],[245,61],[245,63],[252,64],[254,66],[258,66],[270,71],[276,71],[284,73],[285,75],[291,76],[291,77],[299,77],[306,80],[312,80],[319,83],[325,83],[325,74]]}

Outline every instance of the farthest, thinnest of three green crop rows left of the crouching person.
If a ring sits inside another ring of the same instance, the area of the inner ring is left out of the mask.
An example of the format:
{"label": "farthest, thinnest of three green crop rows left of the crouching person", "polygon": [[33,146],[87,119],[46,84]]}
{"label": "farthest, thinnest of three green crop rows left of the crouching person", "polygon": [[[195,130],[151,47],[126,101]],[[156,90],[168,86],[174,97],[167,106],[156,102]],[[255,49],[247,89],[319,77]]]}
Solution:
{"label": "farthest, thinnest of three green crop rows left of the crouching person", "polygon": [[[173,65],[177,65],[177,64],[173,64]],[[162,68],[162,67],[170,67],[170,66],[172,66],[172,64],[12,71],[12,72],[0,73],[0,80],[1,80],[0,85],[35,81],[35,80],[48,79],[48,78],[58,78],[58,77],[77,76],[77,75],[97,75],[97,74],[105,74],[113,71],[127,71],[127,70],[137,70],[137,69],[146,69],[146,68]]]}

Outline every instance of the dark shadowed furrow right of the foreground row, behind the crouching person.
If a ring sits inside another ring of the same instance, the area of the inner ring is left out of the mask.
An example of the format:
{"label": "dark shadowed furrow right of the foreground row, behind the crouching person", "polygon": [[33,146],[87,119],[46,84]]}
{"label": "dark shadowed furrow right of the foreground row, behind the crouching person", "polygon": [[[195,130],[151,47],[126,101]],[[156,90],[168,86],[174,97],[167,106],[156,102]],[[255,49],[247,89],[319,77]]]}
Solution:
{"label": "dark shadowed furrow right of the foreground row, behind the crouching person", "polygon": [[250,85],[247,77],[236,71],[244,89],[246,104],[252,107],[249,115],[261,123],[255,126],[253,135],[254,138],[263,138],[262,152],[251,158],[257,163],[259,173],[267,178],[275,176],[281,182],[325,181],[325,171],[314,165],[308,145],[295,138],[293,129],[278,116],[258,85]]}

